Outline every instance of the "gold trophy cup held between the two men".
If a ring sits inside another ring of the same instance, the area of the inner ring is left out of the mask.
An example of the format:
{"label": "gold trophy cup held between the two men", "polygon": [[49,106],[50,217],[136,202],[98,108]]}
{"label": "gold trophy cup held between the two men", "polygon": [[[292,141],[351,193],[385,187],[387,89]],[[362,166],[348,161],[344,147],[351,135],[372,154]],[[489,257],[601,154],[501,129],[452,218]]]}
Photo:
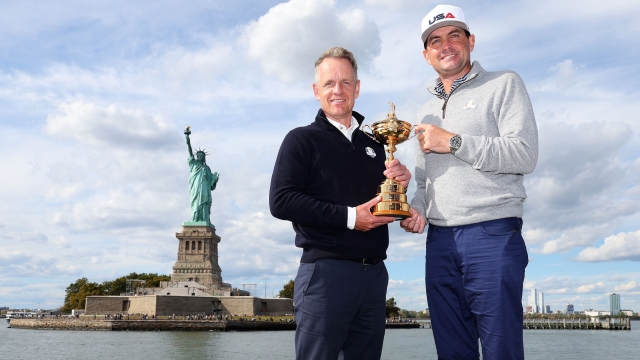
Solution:
{"label": "gold trophy cup held between the two men", "polygon": [[[413,125],[406,121],[398,120],[396,117],[396,106],[389,101],[391,111],[387,114],[387,118],[369,125],[362,125],[360,130],[373,139],[374,141],[386,145],[386,151],[389,153],[386,162],[393,160],[393,153],[396,151],[396,144],[400,144],[410,139]],[[364,131],[367,127],[371,130],[370,135]],[[378,196],[382,196],[382,201],[372,208],[373,215],[376,216],[395,216],[397,219],[404,219],[411,216],[407,203],[407,189],[394,179],[385,179],[378,186]]]}

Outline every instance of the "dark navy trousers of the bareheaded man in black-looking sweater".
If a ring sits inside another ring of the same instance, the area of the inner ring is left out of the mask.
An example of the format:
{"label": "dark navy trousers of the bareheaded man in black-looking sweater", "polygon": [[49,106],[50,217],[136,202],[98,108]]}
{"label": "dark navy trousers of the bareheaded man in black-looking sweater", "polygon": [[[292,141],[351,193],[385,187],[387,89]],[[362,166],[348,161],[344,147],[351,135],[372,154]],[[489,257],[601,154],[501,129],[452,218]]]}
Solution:
{"label": "dark navy trousers of the bareheaded man in black-looking sweater", "polygon": [[382,261],[301,263],[293,295],[296,359],[380,359],[388,282]]}

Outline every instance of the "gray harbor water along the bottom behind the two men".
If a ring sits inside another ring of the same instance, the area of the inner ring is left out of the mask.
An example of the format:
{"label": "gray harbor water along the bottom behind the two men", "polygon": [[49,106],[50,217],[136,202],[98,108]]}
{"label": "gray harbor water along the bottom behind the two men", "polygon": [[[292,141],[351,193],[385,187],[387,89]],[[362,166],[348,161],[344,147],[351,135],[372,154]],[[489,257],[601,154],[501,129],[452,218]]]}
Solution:
{"label": "gray harbor water along the bottom behind the two men", "polygon": [[[293,331],[118,332],[10,329],[0,323],[0,359],[294,359]],[[631,331],[525,330],[527,360],[640,358]],[[431,329],[387,330],[383,359],[437,359]]]}

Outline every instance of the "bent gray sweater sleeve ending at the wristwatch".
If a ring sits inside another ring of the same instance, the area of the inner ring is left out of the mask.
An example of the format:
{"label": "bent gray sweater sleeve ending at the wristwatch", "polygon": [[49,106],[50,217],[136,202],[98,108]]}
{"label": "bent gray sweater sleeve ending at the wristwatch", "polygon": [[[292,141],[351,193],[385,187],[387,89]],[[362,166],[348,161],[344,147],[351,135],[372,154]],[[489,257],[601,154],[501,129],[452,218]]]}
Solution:
{"label": "bent gray sweater sleeve ending at the wristwatch", "polygon": [[538,161],[538,130],[524,82],[516,73],[507,73],[496,97],[500,136],[460,134],[462,145],[455,156],[480,171],[529,174]]}

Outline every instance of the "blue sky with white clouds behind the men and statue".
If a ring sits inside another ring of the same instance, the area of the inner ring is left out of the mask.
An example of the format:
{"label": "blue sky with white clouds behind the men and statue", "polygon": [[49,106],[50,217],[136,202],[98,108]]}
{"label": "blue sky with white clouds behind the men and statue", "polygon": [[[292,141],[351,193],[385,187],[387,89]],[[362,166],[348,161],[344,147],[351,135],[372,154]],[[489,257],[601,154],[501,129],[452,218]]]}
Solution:
{"label": "blue sky with white clouds behind the men and statue", "polygon": [[[220,174],[224,281],[277,294],[301,250],[269,212],[269,182],[284,136],[319,108],[315,59],[351,50],[365,123],[388,101],[414,123],[437,76],[420,41],[437,4],[0,0],[0,306],[57,308],[81,277],[170,274],[190,217],[187,125]],[[451,4],[476,35],[472,60],[516,71],[536,115],[523,305],[535,288],[551,310],[608,310],[618,293],[640,311],[640,3]],[[413,152],[396,157],[412,169]],[[425,235],[390,234],[387,297],[425,309]]]}

